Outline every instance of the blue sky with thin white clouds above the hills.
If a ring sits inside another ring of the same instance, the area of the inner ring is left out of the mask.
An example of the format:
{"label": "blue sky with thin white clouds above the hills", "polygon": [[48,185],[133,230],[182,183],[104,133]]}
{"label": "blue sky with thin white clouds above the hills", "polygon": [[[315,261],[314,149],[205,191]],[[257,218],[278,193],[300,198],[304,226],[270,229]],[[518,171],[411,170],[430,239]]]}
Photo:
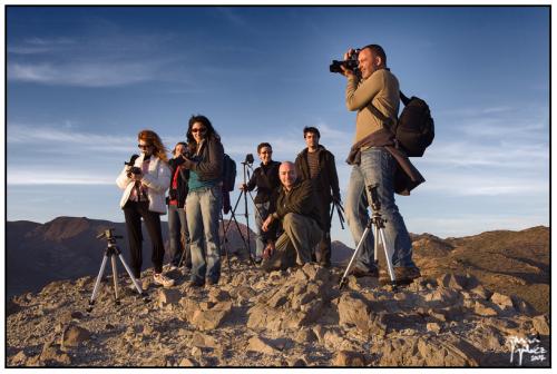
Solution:
{"label": "blue sky with thin white clouds above the hills", "polygon": [[[138,130],[172,148],[193,114],[238,163],[261,141],[293,160],[319,127],[344,193],[355,114],[329,63],[379,43],[436,120],[412,159],[427,181],[397,198],[409,230],[549,225],[547,7],[8,7],[6,22],[8,220],[123,222]],[[336,217],[332,236],[353,244]]]}

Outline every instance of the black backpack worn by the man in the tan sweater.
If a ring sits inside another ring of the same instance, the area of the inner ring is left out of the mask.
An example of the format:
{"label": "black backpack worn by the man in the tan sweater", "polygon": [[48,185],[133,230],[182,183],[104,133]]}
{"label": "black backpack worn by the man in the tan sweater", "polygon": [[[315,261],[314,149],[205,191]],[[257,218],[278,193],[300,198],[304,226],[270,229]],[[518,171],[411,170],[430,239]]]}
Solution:
{"label": "black backpack worn by the man in the tan sweater", "polygon": [[373,105],[369,105],[371,112],[383,122],[388,124],[394,134],[398,147],[405,151],[408,157],[422,157],[436,136],[433,118],[426,101],[416,96],[410,99],[400,92],[404,109],[397,124],[391,125],[391,119],[383,116]]}

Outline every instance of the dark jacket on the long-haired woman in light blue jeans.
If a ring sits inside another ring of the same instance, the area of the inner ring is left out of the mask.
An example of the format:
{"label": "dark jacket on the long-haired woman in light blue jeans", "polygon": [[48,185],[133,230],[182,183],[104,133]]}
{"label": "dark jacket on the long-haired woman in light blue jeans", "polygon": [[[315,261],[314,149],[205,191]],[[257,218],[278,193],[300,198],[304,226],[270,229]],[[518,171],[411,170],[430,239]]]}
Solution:
{"label": "dark jacket on the long-haired woman in light blue jeans", "polygon": [[197,145],[190,145],[190,152],[195,155],[193,161],[186,161],[186,167],[197,173],[199,180],[221,180],[224,163],[224,147],[221,139],[211,136],[203,139],[199,150]]}

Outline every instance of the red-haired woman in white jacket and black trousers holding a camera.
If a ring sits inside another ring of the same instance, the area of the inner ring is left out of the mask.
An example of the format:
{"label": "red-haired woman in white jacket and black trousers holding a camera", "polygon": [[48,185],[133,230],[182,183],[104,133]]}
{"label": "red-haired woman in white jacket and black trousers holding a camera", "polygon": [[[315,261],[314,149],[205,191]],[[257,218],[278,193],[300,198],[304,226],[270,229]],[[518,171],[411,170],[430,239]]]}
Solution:
{"label": "red-haired woman in white jacket and black trousers holding a camera", "polygon": [[165,246],[160,215],[166,214],[165,193],[170,185],[170,169],[165,146],[155,131],[141,130],[137,138],[141,155],[135,158],[134,165],[126,165],[116,179],[118,187],[124,189],[120,207],[126,218],[131,270],[139,282],[143,263],[143,218],[153,244],[154,283],[169,287],[174,285],[174,280],[163,274]]}

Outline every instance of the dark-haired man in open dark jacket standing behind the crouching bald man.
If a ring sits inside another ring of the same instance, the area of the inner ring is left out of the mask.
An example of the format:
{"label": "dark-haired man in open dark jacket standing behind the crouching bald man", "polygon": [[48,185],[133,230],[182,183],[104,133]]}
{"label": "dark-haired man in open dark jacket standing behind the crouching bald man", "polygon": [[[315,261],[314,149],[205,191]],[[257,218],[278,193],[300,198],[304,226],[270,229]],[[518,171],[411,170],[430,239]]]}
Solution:
{"label": "dark-haired man in open dark jacket standing behind the crouching bald man", "polygon": [[304,128],[304,140],[307,146],[296,157],[296,168],[302,180],[312,179],[319,197],[321,222],[324,235],[319,244],[319,263],[331,267],[331,203],[340,204],[341,193],[334,156],[319,144],[321,134],[315,127]]}

